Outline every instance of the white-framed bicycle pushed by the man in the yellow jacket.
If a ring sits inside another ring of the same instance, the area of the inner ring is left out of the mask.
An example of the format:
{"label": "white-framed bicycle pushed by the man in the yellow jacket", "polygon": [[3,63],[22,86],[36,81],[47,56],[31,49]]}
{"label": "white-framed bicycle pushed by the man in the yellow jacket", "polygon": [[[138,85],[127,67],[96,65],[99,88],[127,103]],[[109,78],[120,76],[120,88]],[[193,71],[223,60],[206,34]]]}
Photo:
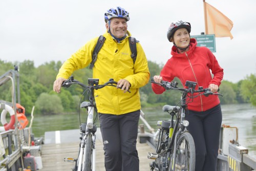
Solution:
{"label": "white-framed bicycle pushed by the man in the yellow jacket", "polygon": [[[68,80],[62,83],[62,87],[70,87],[72,84],[78,84],[82,88],[86,89],[83,93],[88,92],[89,101],[81,100],[79,102],[80,108],[86,108],[88,111],[87,123],[81,123],[80,121],[80,148],[77,159],[65,157],[65,162],[75,162],[75,167],[72,168],[73,171],[95,171],[95,160],[96,160],[96,131],[97,126],[95,125],[96,120],[94,120],[94,111],[97,114],[97,108],[94,99],[94,90],[101,89],[105,86],[117,87],[117,82],[113,79],[110,79],[108,82],[99,85],[99,79],[89,78],[88,84],[89,86],[84,85],[83,83],[75,80],[73,76],[71,76]],[[119,88],[119,87],[118,87]],[[120,87],[121,88],[121,87]],[[130,91],[129,91],[130,92]],[[80,112],[79,120],[80,120]],[[96,116],[97,118],[97,116]]]}

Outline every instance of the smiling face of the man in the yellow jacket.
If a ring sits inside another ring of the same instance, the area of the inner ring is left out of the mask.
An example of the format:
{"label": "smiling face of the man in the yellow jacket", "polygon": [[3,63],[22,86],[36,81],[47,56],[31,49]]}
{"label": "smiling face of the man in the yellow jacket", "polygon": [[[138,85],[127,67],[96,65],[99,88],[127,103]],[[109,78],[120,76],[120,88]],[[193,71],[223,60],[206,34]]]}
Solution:
{"label": "smiling face of the man in the yellow jacket", "polygon": [[127,23],[124,18],[112,18],[110,20],[110,26],[109,22],[106,23],[106,29],[111,31],[111,33],[116,38],[123,37],[127,32]]}

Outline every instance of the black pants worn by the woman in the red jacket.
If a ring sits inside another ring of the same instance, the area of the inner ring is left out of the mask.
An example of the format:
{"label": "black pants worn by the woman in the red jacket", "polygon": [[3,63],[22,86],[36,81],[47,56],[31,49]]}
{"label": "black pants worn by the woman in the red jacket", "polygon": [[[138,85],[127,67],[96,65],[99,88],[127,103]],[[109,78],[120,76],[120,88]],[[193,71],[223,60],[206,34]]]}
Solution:
{"label": "black pants worn by the woman in the red jacket", "polygon": [[196,171],[216,171],[222,122],[220,104],[204,112],[186,111],[196,146]]}

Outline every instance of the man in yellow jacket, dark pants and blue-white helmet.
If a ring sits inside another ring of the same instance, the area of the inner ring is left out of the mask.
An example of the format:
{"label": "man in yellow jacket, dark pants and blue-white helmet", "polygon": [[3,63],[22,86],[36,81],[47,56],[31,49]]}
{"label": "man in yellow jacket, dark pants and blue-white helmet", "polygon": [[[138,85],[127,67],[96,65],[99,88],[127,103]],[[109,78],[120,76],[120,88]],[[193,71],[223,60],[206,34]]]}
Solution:
{"label": "man in yellow jacket, dark pants and blue-white helmet", "polygon": [[[99,78],[99,84],[113,78],[117,86],[105,87],[95,91],[95,101],[100,120],[100,130],[104,144],[106,171],[139,170],[139,158],[136,149],[138,121],[140,116],[139,88],[145,86],[150,78],[147,59],[139,44],[137,58],[131,58],[127,21],[129,13],[121,7],[111,8],[105,14],[105,42],[98,53],[93,68],[93,78]],[[92,62],[92,53],[98,37],[74,53],[61,66],[54,81],[53,90],[60,92],[61,84],[78,69]],[[131,93],[127,93],[130,89]]]}

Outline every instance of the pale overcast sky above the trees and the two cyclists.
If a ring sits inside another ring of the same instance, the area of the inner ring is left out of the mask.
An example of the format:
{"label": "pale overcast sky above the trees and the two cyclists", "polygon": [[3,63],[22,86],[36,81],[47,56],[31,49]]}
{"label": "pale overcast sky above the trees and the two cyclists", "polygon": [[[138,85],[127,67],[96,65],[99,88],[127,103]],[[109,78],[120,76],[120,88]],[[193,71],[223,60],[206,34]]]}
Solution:
{"label": "pale overcast sky above the trees and the two cyclists", "polygon": [[[255,0],[206,0],[233,22],[229,37],[216,37],[216,52],[224,79],[237,82],[256,73]],[[104,13],[121,6],[130,13],[128,30],[147,59],[165,63],[173,46],[166,38],[175,20],[190,22],[190,35],[205,32],[203,0],[1,0],[0,59],[65,61],[91,38],[105,32]]]}

